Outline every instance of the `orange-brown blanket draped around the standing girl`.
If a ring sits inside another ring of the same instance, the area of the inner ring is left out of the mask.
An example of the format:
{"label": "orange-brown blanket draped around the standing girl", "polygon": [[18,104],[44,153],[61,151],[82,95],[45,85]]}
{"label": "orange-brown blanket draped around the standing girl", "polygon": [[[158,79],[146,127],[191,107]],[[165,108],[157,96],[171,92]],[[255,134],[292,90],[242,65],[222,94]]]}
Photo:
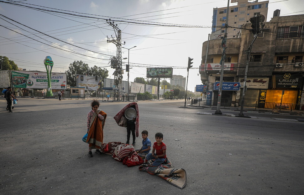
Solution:
{"label": "orange-brown blanket draped around the standing girl", "polygon": [[100,120],[94,113],[90,123],[90,129],[86,142],[89,143],[90,149],[100,149],[103,142],[103,127],[107,118],[107,114],[102,110],[97,110],[98,114],[101,114],[104,119]]}

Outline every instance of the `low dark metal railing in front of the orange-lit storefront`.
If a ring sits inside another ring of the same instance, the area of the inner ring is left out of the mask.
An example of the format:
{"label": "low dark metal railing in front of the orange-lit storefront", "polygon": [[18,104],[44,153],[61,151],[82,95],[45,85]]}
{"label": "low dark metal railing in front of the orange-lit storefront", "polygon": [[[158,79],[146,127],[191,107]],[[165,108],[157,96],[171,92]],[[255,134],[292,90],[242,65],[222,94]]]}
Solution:
{"label": "low dark metal railing in front of the orange-lit storefront", "polygon": [[293,103],[276,103],[276,102],[265,102],[265,104],[259,104],[258,101],[255,103],[255,109],[257,108],[268,108],[272,110],[304,110],[304,104],[293,104]]}

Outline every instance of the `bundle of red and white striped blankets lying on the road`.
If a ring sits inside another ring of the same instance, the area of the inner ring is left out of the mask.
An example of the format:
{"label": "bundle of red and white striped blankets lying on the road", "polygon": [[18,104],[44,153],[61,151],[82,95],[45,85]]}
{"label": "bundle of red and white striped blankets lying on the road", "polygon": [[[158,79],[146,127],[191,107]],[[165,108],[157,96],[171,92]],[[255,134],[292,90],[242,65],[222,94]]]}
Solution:
{"label": "bundle of red and white striped blankets lying on the road", "polygon": [[128,167],[141,165],[144,163],[143,159],[139,157],[134,147],[129,144],[124,144],[121,142],[109,142],[102,144],[101,151],[112,155],[112,157],[123,162],[124,165]]}

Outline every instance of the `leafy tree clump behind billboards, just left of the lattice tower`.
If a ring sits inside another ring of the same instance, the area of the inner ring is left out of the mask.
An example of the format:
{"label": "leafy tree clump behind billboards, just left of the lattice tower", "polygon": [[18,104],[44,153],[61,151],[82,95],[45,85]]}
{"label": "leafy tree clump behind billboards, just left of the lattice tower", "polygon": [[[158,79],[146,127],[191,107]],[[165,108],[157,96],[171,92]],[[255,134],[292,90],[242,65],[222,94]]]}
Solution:
{"label": "leafy tree clump behind billboards, just left of the lattice tower", "polygon": [[90,75],[107,78],[109,71],[107,69],[101,69],[97,66],[89,67],[88,64],[82,61],[74,61],[70,64],[69,69],[66,71],[67,83],[70,86],[76,86],[76,74]]}

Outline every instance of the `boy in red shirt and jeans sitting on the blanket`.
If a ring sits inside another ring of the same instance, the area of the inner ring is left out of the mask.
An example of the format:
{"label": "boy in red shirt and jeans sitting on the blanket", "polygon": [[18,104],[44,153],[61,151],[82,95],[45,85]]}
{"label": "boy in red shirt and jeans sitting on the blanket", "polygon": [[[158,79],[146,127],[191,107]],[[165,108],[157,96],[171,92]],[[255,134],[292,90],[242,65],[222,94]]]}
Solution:
{"label": "boy in red shirt and jeans sitting on the blanket", "polygon": [[152,153],[149,153],[145,159],[145,163],[147,163],[149,160],[154,160],[152,163],[152,166],[160,166],[161,163],[165,162],[166,160],[166,150],[167,146],[162,142],[163,141],[163,134],[162,133],[156,133],[155,134],[155,140],[153,144],[153,150]]}

